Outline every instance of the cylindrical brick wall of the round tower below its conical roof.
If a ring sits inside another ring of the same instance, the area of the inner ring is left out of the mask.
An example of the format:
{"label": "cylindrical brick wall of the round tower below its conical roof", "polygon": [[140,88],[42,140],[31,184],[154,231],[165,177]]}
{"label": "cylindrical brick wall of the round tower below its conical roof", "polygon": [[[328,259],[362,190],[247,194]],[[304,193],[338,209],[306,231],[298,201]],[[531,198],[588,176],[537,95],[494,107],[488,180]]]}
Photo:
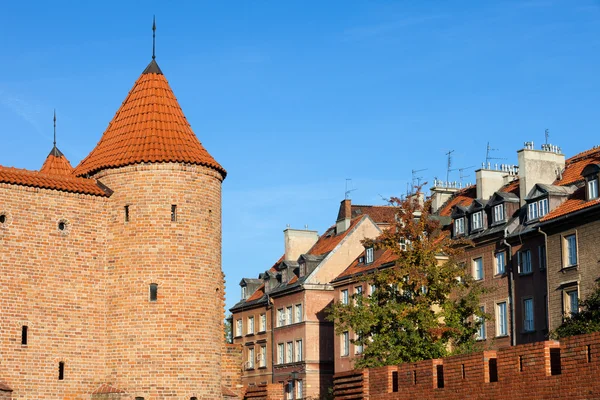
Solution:
{"label": "cylindrical brick wall of the round tower below its conical roof", "polygon": [[[95,178],[114,190],[106,261],[111,383],[146,399],[221,398],[222,176],[164,163]],[[154,302],[151,283],[158,284]]]}

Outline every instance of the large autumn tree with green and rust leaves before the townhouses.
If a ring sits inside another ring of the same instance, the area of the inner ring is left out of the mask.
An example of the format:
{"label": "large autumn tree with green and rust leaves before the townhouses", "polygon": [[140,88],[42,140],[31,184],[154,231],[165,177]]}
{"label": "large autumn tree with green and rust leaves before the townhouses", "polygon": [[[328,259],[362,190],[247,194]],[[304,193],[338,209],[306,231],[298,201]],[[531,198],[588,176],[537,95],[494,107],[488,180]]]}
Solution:
{"label": "large autumn tree with green and rust leaves before the townhouses", "polygon": [[378,238],[363,242],[397,257],[392,267],[362,276],[375,291],[330,308],[336,334],[348,331],[351,341],[363,346],[355,368],[439,358],[476,347],[475,333],[484,317],[479,308],[483,288],[461,262],[461,248],[469,243],[442,231],[429,211],[431,200],[420,197],[418,190],[406,199],[390,199],[396,220]]}

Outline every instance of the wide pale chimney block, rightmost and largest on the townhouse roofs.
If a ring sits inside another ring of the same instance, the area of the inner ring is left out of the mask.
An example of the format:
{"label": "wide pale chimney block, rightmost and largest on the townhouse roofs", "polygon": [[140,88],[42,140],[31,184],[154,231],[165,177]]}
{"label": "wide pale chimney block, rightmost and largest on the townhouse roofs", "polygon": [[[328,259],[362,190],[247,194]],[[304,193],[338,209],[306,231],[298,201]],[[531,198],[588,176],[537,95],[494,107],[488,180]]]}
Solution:
{"label": "wide pale chimney block, rightmost and largest on the townhouse roofs", "polygon": [[533,142],[526,142],[517,152],[519,158],[519,180],[521,205],[536,183],[552,184],[565,168],[565,155],[560,147],[543,144],[541,150],[535,150]]}

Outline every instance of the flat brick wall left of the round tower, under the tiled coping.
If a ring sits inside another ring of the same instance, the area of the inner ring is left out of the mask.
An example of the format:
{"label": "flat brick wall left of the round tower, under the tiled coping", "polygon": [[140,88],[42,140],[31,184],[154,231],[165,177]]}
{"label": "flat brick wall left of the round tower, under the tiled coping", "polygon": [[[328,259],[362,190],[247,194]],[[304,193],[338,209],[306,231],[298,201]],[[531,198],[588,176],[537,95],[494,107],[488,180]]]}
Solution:
{"label": "flat brick wall left of the round tower, under the tiled coping", "polygon": [[107,202],[0,185],[0,379],[14,398],[89,398],[102,383]]}

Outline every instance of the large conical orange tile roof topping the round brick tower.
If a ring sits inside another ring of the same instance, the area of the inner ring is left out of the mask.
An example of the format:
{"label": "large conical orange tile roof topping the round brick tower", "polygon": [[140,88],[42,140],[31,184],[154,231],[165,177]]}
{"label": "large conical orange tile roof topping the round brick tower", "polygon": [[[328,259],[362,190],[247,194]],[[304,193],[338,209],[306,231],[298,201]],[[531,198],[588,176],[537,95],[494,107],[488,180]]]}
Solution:
{"label": "large conical orange tile roof topping the round brick tower", "polygon": [[202,146],[154,60],[138,78],[77,176],[142,162],[184,162],[225,169]]}

